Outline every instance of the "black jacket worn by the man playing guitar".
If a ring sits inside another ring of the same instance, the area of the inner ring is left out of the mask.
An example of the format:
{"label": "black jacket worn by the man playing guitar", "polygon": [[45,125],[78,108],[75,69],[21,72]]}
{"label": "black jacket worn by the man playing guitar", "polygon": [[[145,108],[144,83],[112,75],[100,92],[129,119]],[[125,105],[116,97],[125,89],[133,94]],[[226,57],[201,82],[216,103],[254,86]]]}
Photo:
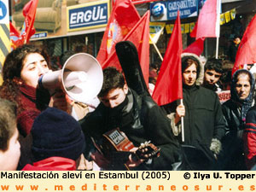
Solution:
{"label": "black jacket worn by the man playing guitar", "polygon": [[[81,120],[85,137],[97,140],[103,133],[119,127],[136,147],[150,140],[160,148],[160,157],[153,158],[150,164],[141,164],[137,170],[172,170],[172,163],[178,161],[180,152],[166,114],[150,96],[138,96],[130,90],[126,98],[121,111],[114,112],[100,103],[94,112],[88,113]],[[90,150],[87,148],[86,152]]]}

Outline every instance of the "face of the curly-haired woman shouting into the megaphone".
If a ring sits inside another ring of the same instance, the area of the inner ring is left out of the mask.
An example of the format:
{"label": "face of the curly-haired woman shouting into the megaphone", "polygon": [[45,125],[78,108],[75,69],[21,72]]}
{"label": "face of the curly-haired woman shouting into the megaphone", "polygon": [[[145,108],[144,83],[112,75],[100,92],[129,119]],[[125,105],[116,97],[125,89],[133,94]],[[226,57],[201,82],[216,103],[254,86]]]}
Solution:
{"label": "face of the curly-haired woman shouting into the megaphone", "polygon": [[49,67],[44,56],[38,53],[26,55],[23,61],[23,67],[20,72],[20,78],[28,85],[36,88],[38,79],[44,73],[49,72]]}

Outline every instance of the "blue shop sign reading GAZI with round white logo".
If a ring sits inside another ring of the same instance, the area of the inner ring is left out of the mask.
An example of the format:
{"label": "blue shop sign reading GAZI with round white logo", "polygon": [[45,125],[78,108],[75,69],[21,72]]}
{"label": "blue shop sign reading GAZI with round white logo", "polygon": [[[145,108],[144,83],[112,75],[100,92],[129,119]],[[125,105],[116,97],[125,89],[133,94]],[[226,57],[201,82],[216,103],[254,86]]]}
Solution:
{"label": "blue shop sign reading GAZI with round white logo", "polygon": [[[159,2],[158,2],[159,3]],[[166,16],[154,15],[154,6],[157,3],[150,4],[151,21],[159,20],[176,20],[177,10],[180,12],[180,18],[195,17],[198,15],[198,0],[176,0],[176,1],[166,1],[160,2],[166,7]]]}

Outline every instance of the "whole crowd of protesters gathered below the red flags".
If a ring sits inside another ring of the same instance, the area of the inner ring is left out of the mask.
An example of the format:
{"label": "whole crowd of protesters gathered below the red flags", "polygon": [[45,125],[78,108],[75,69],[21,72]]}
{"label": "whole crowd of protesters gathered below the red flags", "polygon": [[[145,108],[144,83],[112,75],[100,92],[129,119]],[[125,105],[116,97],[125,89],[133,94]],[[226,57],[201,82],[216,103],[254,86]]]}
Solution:
{"label": "whole crowd of protesters gathered below the red flags", "polygon": [[[50,71],[48,58],[44,49],[23,45],[4,61],[0,170],[241,171],[255,165],[253,67],[232,76],[232,61],[208,59],[203,64],[201,57],[183,54],[183,101],[165,106],[150,96],[158,63],[149,69],[149,90],[143,94],[108,67],[100,103],[89,113],[84,105],[75,110],[79,103],[63,90],[50,95],[38,86]],[[230,91],[226,102],[218,96],[222,91]],[[106,137],[114,137],[116,146]],[[114,151],[123,138],[129,142],[121,146],[126,153]]]}

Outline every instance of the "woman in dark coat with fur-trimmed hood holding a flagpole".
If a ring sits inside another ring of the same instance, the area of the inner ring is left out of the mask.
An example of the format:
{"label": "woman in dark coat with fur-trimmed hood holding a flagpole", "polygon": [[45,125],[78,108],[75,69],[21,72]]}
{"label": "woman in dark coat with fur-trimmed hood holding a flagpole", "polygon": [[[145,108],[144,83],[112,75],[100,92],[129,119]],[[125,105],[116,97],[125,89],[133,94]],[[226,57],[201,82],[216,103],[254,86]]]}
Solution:
{"label": "woman in dark coat with fur-trimmed hood holding a flagpole", "polygon": [[224,137],[224,117],[217,94],[195,84],[200,69],[200,61],[196,55],[183,55],[183,104],[172,102],[164,108],[170,113],[168,117],[172,119],[173,133],[179,138],[183,117],[184,142],[180,143],[201,150],[211,162],[207,164],[211,166],[203,166],[201,163],[201,167],[197,169],[212,170],[215,169],[213,165],[221,149],[221,138]]}

